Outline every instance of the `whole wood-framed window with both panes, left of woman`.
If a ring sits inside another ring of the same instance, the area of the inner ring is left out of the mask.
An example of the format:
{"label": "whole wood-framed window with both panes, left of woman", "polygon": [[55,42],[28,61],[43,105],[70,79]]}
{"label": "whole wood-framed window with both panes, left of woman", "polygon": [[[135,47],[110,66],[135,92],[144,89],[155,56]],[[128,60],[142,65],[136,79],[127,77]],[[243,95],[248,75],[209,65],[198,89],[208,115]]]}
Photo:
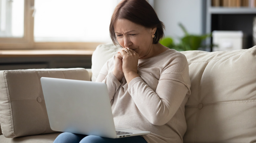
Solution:
{"label": "whole wood-framed window with both panes, left of woman", "polygon": [[120,0],[0,0],[0,49],[95,49]]}

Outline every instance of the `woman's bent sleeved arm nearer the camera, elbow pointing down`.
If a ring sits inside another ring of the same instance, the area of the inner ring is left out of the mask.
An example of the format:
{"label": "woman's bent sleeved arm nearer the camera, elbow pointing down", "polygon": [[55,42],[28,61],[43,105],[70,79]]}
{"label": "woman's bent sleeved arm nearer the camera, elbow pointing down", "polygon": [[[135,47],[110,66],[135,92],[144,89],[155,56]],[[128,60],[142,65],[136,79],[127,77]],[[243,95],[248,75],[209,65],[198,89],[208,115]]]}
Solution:
{"label": "woman's bent sleeved arm nearer the camera, elbow pointing down", "polygon": [[140,77],[134,78],[129,83],[129,94],[142,115],[154,125],[166,124],[176,114],[186,94],[190,93],[188,65],[180,61],[177,64],[183,66],[181,67],[183,71],[174,73],[173,66],[167,67],[156,83],[158,84],[156,91]]}

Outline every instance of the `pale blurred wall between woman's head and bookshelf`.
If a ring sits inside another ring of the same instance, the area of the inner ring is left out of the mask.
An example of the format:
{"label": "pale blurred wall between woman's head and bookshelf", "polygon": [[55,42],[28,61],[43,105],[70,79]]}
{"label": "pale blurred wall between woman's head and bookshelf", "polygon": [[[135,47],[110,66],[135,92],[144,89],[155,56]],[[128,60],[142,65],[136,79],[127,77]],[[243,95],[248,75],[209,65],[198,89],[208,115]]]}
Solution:
{"label": "pale blurred wall between woman's head and bookshelf", "polygon": [[165,24],[165,37],[181,37],[181,22],[191,34],[203,33],[202,0],[155,0],[154,9]]}

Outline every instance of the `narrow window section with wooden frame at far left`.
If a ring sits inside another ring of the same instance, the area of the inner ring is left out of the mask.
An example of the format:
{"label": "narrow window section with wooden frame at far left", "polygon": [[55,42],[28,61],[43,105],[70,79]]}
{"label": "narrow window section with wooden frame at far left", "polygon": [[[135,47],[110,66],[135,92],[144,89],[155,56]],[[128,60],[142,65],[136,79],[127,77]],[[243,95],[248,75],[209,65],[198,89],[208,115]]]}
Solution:
{"label": "narrow window section with wooden frame at far left", "polygon": [[0,49],[33,48],[33,0],[0,0]]}

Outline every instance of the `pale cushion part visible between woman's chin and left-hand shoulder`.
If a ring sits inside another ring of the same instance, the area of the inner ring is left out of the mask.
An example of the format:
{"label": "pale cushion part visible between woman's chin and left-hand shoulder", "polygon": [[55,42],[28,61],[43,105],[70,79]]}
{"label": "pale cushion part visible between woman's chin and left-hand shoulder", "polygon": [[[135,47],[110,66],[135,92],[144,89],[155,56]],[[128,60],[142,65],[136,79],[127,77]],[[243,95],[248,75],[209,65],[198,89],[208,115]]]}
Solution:
{"label": "pale cushion part visible between woman's chin and left-hand shoulder", "polygon": [[113,43],[98,45],[92,55],[92,81],[96,81],[100,69],[106,61],[116,55],[117,51],[121,49]]}

